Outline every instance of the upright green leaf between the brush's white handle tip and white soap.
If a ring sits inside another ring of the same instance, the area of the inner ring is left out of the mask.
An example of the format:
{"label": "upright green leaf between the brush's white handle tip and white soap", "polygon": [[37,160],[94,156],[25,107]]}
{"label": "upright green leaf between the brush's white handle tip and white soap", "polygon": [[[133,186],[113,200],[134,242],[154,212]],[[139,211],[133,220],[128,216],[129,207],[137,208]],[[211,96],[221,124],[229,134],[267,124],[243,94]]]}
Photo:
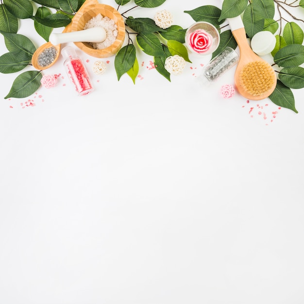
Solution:
{"label": "upright green leaf between the brush's white handle tip and white soap", "polygon": [[261,7],[249,4],[243,15],[243,23],[246,34],[249,38],[252,38],[256,33],[263,31],[264,18]]}

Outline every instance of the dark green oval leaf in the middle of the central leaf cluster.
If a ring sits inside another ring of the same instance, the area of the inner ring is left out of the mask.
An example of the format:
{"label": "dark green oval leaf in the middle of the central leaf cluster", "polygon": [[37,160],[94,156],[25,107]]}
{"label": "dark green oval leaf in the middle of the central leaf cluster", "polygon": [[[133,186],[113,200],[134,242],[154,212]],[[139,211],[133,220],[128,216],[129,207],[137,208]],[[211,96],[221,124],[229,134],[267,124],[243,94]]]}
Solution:
{"label": "dark green oval leaf in the middle of the central leaf cluster", "polygon": [[159,39],[153,33],[142,32],[136,35],[138,46],[148,55],[163,56],[164,51]]}

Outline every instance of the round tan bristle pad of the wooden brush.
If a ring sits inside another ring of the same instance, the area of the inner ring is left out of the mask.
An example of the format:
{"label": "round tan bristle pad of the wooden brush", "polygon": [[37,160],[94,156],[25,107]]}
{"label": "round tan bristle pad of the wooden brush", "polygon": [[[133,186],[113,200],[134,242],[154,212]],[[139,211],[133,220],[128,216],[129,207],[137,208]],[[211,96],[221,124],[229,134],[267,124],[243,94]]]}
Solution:
{"label": "round tan bristle pad of the wooden brush", "polygon": [[253,61],[245,65],[239,74],[241,86],[251,95],[266,93],[276,82],[273,69],[267,62]]}

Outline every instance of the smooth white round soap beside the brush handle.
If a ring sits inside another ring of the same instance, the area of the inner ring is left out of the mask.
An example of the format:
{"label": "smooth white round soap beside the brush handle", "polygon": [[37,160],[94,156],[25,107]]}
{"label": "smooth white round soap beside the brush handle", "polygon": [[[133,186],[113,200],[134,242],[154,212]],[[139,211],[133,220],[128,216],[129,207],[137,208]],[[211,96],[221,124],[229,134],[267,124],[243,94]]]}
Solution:
{"label": "smooth white round soap beside the brush handle", "polygon": [[269,31],[258,32],[251,39],[251,48],[259,56],[269,54],[275,44],[275,36]]}

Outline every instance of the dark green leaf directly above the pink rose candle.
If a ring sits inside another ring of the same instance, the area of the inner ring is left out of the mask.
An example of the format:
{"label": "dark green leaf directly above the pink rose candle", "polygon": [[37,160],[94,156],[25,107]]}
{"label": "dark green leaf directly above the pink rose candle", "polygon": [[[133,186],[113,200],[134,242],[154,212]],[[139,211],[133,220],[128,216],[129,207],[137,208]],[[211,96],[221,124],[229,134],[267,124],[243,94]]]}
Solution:
{"label": "dark green leaf directly above the pink rose candle", "polygon": [[214,5],[203,5],[184,13],[189,14],[194,21],[206,21],[217,25],[225,21],[219,21],[221,10]]}

